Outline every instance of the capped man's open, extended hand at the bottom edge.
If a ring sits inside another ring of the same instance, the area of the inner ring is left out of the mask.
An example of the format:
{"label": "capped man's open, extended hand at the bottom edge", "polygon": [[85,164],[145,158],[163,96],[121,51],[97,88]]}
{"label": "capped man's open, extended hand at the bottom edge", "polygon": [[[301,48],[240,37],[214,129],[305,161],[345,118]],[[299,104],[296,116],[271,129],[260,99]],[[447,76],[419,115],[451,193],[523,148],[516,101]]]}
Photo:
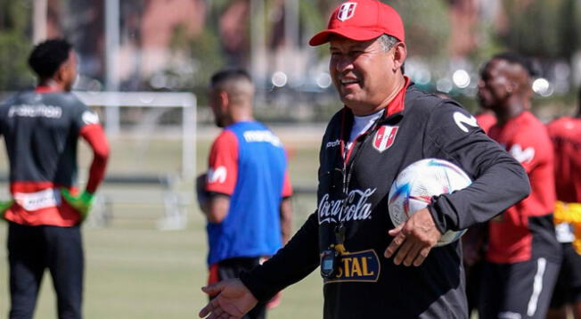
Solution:
{"label": "capped man's open, extended hand at the bottom edge", "polygon": [[201,290],[215,298],[200,310],[200,318],[240,319],[258,303],[240,279],[217,282]]}

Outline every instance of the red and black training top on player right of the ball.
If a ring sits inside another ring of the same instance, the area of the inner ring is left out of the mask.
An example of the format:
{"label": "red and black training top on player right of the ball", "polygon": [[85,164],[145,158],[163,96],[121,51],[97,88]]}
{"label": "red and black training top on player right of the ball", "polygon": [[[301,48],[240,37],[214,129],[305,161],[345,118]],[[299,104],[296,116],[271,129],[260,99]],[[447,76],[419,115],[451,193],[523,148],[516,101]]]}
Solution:
{"label": "red and black training top on player right of the ball", "polygon": [[531,258],[561,258],[554,234],[552,143],[544,124],[529,111],[488,133],[527,171],[532,192],[488,224],[487,260],[513,264]]}

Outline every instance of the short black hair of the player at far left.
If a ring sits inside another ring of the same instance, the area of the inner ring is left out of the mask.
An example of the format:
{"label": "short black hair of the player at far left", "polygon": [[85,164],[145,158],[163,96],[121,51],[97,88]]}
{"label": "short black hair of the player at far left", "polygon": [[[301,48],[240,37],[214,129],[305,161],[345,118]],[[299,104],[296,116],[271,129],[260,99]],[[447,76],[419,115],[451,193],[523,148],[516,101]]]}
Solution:
{"label": "short black hair of the player at far left", "polygon": [[71,50],[72,45],[65,39],[46,40],[32,49],[29,66],[39,78],[50,78],[69,59]]}

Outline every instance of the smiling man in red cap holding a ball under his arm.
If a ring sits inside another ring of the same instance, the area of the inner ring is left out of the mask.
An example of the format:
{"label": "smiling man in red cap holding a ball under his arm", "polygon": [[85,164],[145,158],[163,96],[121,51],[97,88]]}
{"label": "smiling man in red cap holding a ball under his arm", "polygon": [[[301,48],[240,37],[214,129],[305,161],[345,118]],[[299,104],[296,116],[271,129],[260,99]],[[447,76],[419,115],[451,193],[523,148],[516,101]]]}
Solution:
{"label": "smiling man in red cap holding a ball under his arm", "polygon": [[[325,319],[468,318],[462,249],[457,241],[434,246],[442,233],[487,221],[527,196],[525,171],[460,105],[405,77],[404,26],[389,5],[344,2],[309,43],[330,43],[331,78],[345,105],[323,136],[318,209],[265,264],[203,287],[216,298],[200,317],[240,318],[321,266]],[[389,188],[426,158],[453,162],[473,183],[395,226]]]}

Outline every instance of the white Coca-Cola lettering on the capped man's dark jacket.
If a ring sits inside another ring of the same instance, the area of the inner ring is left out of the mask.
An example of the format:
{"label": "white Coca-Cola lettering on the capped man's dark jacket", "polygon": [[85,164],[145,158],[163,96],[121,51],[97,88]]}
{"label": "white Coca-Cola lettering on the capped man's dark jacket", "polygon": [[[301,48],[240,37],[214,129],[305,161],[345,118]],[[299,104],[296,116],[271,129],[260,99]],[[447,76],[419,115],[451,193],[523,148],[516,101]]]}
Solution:
{"label": "white Coca-Cola lettering on the capped man's dark jacket", "polygon": [[324,194],[319,202],[319,224],[340,223],[350,220],[364,220],[372,218],[372,204],[368,202],[373,192],[377,190],[353,190],[348,193],[347,203],[343,211],[343,200],[329,200],[329,194]]}

